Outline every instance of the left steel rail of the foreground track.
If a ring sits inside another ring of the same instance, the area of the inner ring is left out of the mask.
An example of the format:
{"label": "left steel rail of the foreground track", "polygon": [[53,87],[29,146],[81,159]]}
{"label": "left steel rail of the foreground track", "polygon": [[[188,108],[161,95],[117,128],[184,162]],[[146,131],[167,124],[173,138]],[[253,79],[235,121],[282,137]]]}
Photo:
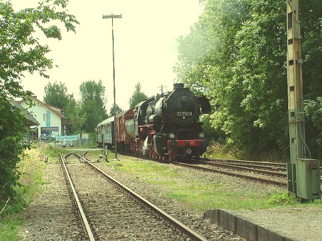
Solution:
{"label": "left steel rail of the foreground track", "polygon": [[70,186],[70,188],[72,190],[72,193],[73,193],[73,196],[74,196],[74,201],[76,202],[76,205],[77,205],[77,208],[78,208],[78,214],[79,214],[79,216],[81,218],[81,221],[82,221],[83,229],[84,229],[85,233],[88,236],[88,240],[95,241],[94,235],[93,235],[92,230],[91,230],[91,227],[90,227],[90,225],[88,223],[88,220],[87,220],[87,218],[85,216],[85,213],[84,213],[84,210],[82,208],[81,202],[78,199],[78,196],[76,194],[74,185],[71,182],[71,178],[69,176],[69,173],[68,173],[68,170],[67,170],[67,167],[66,167],[66,164],[65,164],[65,157],[69,156],[70,154],[72,154],[72,152],[68,153],[64,157],[62,157],[61,153],[60,153],[60,158],[61,158],[60,160],[61,160],[61,162],[63,164],[64,172],[65,172],[65,174],[67,176],[69,186]]}

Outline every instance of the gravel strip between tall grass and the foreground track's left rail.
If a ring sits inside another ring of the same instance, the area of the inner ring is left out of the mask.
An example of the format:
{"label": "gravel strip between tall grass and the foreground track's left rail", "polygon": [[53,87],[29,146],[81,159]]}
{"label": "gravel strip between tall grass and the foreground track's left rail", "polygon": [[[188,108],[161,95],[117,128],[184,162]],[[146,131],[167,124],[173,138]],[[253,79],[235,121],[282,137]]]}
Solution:
{"label": "gravel strip between tall grass and the foreground track's left rail", "polygon": [[79,240],[81,229],[75,224],[61,165],[48,163],[45,176],[49,182],[45,193],[22,213],[26,219],[23,240]]}

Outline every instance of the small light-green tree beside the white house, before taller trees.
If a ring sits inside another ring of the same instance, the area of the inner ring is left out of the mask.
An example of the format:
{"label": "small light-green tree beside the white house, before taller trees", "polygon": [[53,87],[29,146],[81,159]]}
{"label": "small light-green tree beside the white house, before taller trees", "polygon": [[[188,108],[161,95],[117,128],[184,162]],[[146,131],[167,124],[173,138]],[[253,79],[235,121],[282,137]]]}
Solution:
{"label": "small light-green tree beside the white house, before taller trees", "polygon": [[72,133],[82,133],[85,130],[85,123],[87,122],[87,114],[82,113],[82,109],[74,99],[71,99],[65,109],[66,117],[70,118],[72,123]]}

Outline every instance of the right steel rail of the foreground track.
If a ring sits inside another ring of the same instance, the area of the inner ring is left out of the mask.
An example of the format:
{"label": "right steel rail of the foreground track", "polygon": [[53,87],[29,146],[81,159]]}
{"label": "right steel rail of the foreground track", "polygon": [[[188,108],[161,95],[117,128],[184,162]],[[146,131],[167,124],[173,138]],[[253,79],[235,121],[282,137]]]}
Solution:
{"label": "right steel rail of the foreground track", "polygon": [[199,233],[195,232],[194,230],[192,230],[191,228],[189,228],[188,226],[186,226],[185,224],[183,224],[182,222],[180,222],[179,220],[175,219],[174,217],[172,217],[171,215],[169,215],[168,213],[166,213],[165,211],[163,211],[162,209],[160,209],[157,206],[155,206],[154,204],[152,204],[151,202],[149,202],[145,198],[141,197],[140,195],[138,195],[137,193],[135,193],[134,191],[132,191],[128,187],[124,186],[122,183],[118,182],[113,177],[109,176],[104,171],[102,171],[101,169],[99,169],[98,167],[96,167],[95,165],[93,165],[92,163],[90,163],[84,157],[85,153],[83,153],[83,155],[80,156],[80,155],[78,155],[77,153],[74,152],[75,155],[77,155],[78,157],[82,158],[94,170],[96,170],[97,172],[101,173],[103,176],[105,176],[106,178],[108,178],[109,180],[111,180],[112,182],[114,182],[116,185],[118,185],[123,190],[125,190],[126,192],[128,192],[132,197],[134,197],[139,202],[141,202],[144,206],[146,206],[146,207],[150,208],[151,210],[153,210],[160,217],[164,218],[166,221],[168,221],[170,224],[172,224],[174,227],[176,227],[178,230],[180,230],[182,233],[184,233],[188,237],[190,237],[190,238],[192,238],[193,240],[196,240],[196,241],[207,241],[208,240],[205,237],[203,237],[202,235],[200,235]]}

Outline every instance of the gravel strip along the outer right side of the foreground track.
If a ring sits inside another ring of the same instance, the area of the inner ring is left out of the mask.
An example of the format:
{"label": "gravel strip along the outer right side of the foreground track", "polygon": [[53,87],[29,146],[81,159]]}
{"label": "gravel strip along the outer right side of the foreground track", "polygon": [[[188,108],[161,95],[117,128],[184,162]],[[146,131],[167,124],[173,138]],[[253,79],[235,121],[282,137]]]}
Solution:
{"label": "gravel strip along the outer right side of the foreground track", "polygon": [[[88,157],[90,157],[88,155]],[[126,158],[128,160],[137,161],[137,158],[120,156],[120,159]],[[89,158],[90,159],[90,158]],[[94,159],[93,159],[94,160]],[[140,160],[142,161],[142,160]],[[183,205],[175,200],[166,198],[162,193],[163,190],[157,186],[147,184],[130,176],[124,172],[117,171],[113,168],[109,168],[104,163],[95,163],[97,167],[105,171],[107,174],[116,178],[118,181],[146,198],[148,201],[162,208],[164,211],[177,218],[179,221],[189,226],[191,229],[197,231],[209,240],[219,241],[219,240],[231,240],[231,241],[241,241],[246,240],[233,235],[232,231],[224,230],[221,227],[209,223],[207,220],[201,218],[201,214],[198,211],[191,210],[189,208],[183,207]],[[160,164],[168,165],[168,164]],[[177,167],[177,166],[176,166]],[[187,168],[183,168],[187,171]],[[191,175],[191,173],[189,174]],[[204,175],[204,173],[202,174]],[[179,184],[180,185],[180,184]],[[157,189],[158,193],[155,192]]]}

